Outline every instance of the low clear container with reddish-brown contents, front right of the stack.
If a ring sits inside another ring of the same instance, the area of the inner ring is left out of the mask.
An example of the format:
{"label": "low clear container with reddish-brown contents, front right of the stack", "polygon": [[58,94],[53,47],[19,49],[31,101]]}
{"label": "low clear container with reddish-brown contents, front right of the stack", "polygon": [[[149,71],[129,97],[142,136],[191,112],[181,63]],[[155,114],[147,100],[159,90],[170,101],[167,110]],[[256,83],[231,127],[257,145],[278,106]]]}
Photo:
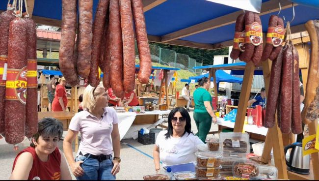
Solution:
{"label": "low clear container with reddish-brown contents, front right of the stack", "polygon": [[259,176],[259,165],[251,161],[236,161],[233,163],[233,176],[252,179]]}

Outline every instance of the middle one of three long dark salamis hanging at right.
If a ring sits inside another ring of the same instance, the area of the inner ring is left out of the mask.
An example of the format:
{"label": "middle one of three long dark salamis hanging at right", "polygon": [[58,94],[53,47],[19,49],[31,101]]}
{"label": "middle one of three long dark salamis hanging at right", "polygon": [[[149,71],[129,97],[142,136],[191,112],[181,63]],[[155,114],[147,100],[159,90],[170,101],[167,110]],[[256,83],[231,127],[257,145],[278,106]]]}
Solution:
{"label": "middle one of three long dark salamis hanging at right", "polygon": [[[288,134],[292,127],[292,42],[287,41],[284,47],[281,77],[281,126],[280,130]],[[300,101],[300,100],[299,100]]]}

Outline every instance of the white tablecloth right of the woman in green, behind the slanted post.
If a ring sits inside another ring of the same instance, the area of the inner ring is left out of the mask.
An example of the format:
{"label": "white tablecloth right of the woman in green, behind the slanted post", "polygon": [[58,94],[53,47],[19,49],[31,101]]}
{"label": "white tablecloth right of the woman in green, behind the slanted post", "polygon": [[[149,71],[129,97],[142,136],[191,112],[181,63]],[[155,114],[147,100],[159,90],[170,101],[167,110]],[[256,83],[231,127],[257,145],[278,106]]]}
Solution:
{"label": "white tablecloth right of the woman in green, behind the slanted post", "polygon": [[[217,118],[217,124],[234,128],[235,127],[235,122],[231,121],[224,121],[223,118]],[[266,136],[268,128],[266,127],[257,127],[255,124],[244,124],[244,131],[250,132],[250,133],[256,133],[256,134],[261,134]]]}

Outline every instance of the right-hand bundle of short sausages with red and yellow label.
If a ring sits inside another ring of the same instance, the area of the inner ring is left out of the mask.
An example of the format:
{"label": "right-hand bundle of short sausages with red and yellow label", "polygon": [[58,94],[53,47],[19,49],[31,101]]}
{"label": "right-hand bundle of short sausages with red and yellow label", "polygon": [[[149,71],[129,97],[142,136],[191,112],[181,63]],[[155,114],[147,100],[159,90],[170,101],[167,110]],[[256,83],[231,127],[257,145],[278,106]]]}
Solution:
{"label": "right-hand bundle of short sausages with red and yellow label", "polygon": [[[261,60],[268,58],[275,60],[281,50],[284,41],[285,29],[283,20],[275,15],[271,15],[268,23],[266,45]],[[278,48],[277,48],[278,47]]]}

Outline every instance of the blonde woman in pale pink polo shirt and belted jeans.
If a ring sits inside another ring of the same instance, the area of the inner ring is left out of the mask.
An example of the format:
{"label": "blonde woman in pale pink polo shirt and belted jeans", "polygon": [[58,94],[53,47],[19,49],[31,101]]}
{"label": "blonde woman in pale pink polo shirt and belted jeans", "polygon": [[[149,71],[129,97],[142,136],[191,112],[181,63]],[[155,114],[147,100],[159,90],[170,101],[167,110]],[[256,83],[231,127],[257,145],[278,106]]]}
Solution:
{"label": "blonde woman in pale pink polo shirt and belted jeans", "polygon": [[[87,86],[83,92],[83,111],[70,122],[63,150],[77,180],[115,180],[120,170],[118,118],[113,108],[106,107],[107,103],[102,82],[95,88]],[[71,145],[79,131],[81,141],[74,159]]]}

